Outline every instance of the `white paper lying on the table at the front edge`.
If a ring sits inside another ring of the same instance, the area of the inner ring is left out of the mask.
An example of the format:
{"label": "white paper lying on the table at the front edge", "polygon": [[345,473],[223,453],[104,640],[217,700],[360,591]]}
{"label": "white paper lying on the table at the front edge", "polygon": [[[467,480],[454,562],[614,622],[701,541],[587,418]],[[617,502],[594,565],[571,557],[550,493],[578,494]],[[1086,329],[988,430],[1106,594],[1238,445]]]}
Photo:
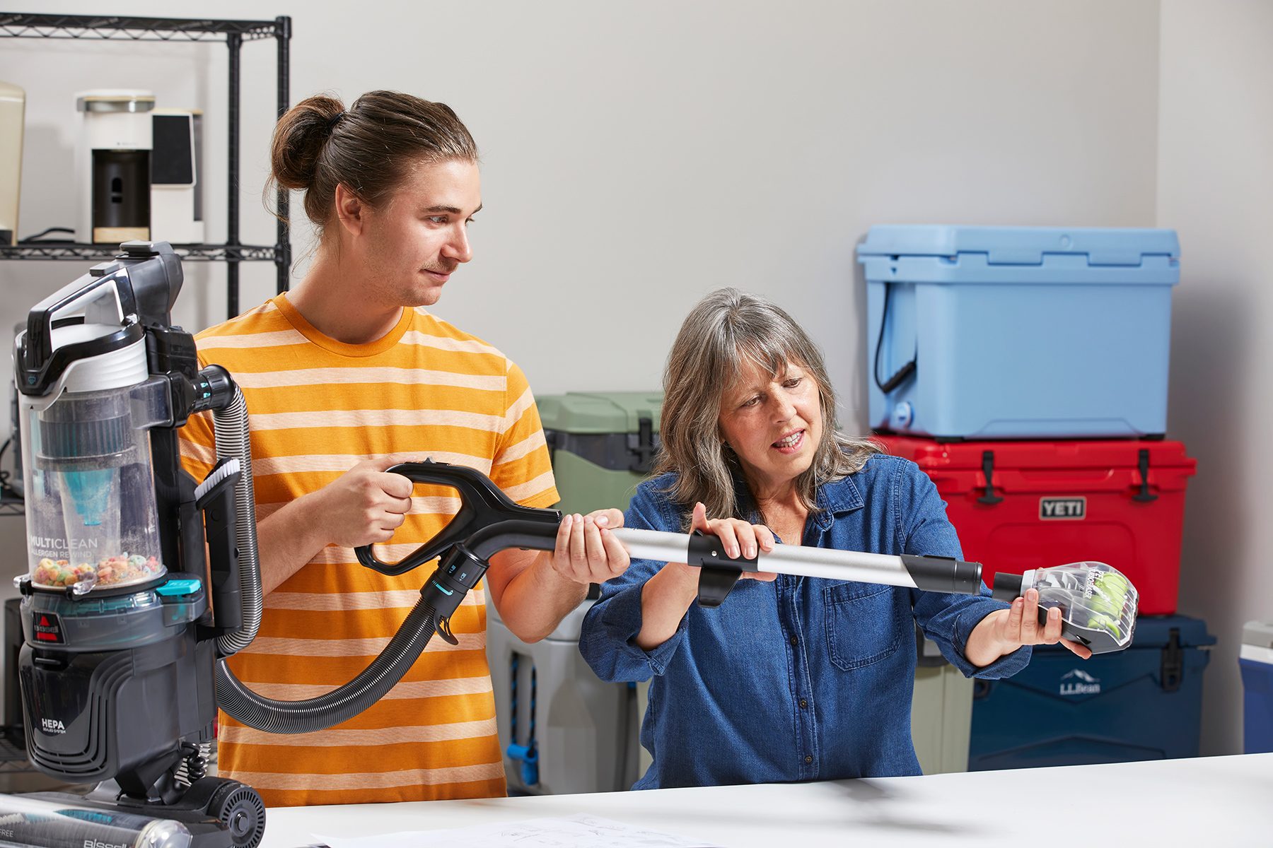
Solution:
{"label": "white paper lying on the table at the front edge", "polygon": [[699,839],[685,839],[657,830],[635,828],[614,819],[578,815],[569,819],[528,819],[502,824],[412,830],[382,837],[318,837],[330,848],[717,848]]}

